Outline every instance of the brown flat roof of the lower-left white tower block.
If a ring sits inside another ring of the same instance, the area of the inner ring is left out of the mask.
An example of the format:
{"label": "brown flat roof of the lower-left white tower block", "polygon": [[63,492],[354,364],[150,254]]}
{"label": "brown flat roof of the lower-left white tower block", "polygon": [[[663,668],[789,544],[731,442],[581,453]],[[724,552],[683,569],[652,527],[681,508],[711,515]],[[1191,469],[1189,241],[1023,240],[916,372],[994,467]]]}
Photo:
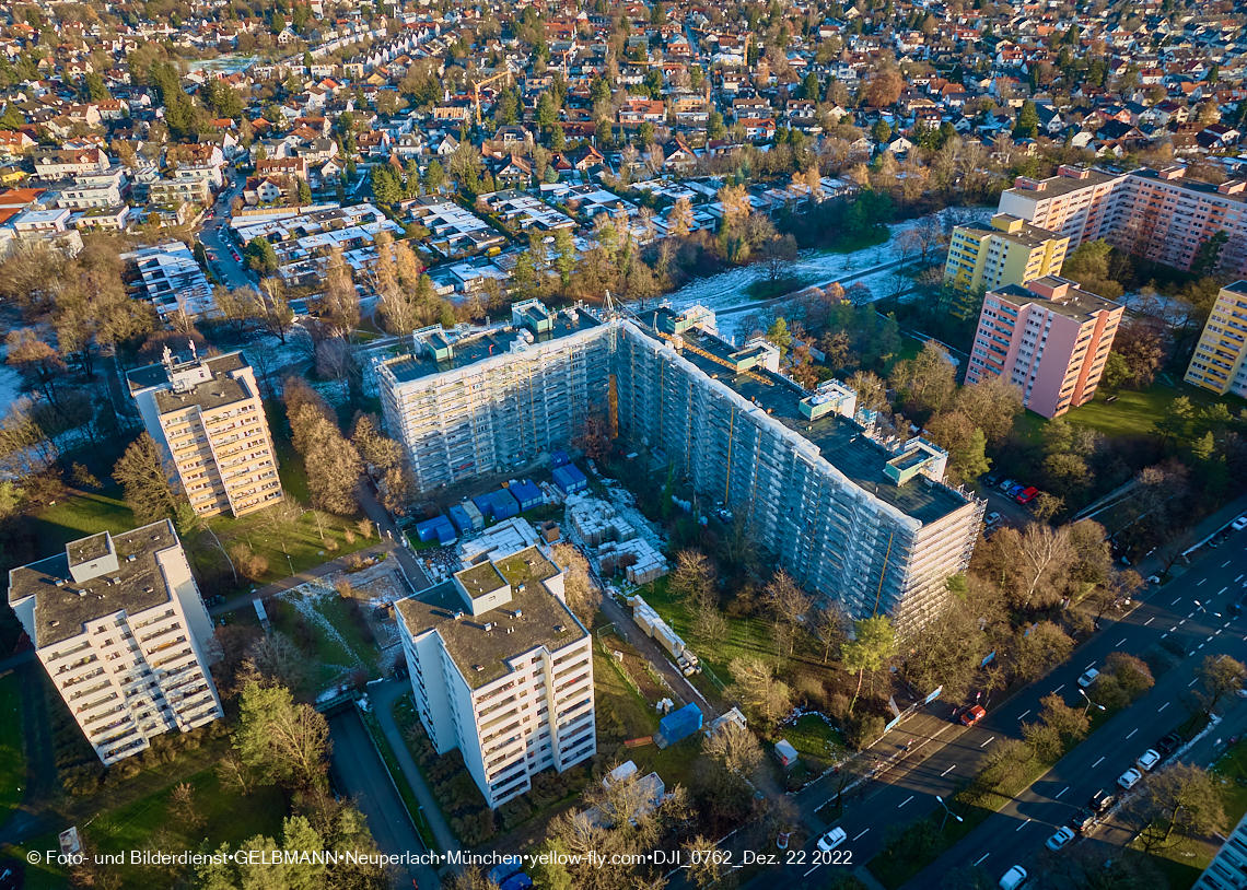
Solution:
{"label": "brown flat roof of the lower-left white tower block", "polygon": [[[102,556],[102,534],[72,541],[66,551],[9,573],[10,603],[35,597],[36,649],[76,637],[87,622],[122,608],[135,615],[171,600],[163,572],[156,563],[156,553],[181,546],[167,521],[115,535],[112,543],[117,571],[90,581],[74,581],[69,555],[74,555],[75,565]],[[130,560],[131,556],[135,558]]]}

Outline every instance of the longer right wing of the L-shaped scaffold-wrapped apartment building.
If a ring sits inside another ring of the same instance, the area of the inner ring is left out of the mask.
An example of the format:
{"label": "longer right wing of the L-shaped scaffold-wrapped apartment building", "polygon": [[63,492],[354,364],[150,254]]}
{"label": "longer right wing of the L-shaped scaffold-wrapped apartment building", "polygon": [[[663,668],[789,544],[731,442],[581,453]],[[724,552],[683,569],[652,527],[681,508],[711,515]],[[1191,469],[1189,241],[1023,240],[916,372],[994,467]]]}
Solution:
{"label": "longer right wing of the L-shaped scaffold-wrapped apartment building", "polygon": [[798,583],[849,618],[889,615],[905,636],[939,613],[984,510],[943,482],[941,449],[879,433],[835,381],[808,393],[778,374],[769,343],[720,339],[708,310],[619,324],[622,435],[743,515]]}

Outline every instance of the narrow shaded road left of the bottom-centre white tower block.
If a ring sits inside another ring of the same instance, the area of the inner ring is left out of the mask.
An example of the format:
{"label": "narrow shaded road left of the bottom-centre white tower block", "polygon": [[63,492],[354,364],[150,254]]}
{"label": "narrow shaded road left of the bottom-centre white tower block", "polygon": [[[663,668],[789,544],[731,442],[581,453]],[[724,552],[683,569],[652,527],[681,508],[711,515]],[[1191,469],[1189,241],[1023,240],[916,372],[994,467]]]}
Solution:
{"label": "narrow shaded road left of the bottom-centre white tower block", "polygon": [[[426,853],[354,708],[329,718],[329,735],[333,779],[343,794],[354,798],[380,851],[390,856]],[[395,873],[399,886],[413,880],[421,888],[440,886],[436,871],[429,865],[400,865]]]}

